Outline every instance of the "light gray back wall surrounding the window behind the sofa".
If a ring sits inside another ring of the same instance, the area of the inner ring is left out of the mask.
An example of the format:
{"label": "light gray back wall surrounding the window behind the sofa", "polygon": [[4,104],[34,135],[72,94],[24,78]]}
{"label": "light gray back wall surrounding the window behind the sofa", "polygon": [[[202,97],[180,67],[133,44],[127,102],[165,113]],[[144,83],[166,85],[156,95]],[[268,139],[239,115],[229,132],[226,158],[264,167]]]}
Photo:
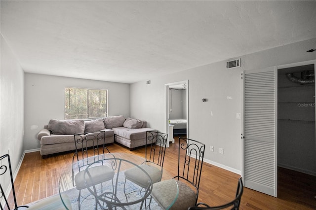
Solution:
{"label": "light gray back wall surrounding the window behind the sofa", "polygon": [[108,89],[109,116],[130,115],[129,84],[26,73],[25,150],[40,148],[37,134],[50,119],[64,119],[65,87]]}

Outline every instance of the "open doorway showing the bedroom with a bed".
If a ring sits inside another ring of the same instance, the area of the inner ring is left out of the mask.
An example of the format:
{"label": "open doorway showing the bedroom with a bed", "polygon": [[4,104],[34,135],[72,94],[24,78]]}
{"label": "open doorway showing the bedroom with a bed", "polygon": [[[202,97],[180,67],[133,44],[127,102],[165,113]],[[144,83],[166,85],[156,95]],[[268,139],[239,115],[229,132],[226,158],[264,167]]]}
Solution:
{"label": "open doorway showing the bedroom with a bed", "polygon": [[169,141],[189,134],[188,80],[166,84],[166,124]]}

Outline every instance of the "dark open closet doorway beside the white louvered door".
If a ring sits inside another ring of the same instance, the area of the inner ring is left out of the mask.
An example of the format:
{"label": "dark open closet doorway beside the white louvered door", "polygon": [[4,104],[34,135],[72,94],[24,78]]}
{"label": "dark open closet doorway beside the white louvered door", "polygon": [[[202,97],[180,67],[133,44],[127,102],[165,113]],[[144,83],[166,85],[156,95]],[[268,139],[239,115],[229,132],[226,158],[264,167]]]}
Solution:
{"label": "dark open closet doorway beside the white louvered door", "polygon": [[[313,185],[306,183],[312,180],[308,177],[316,176],[315,64],[278,69],[277,74],[278,187],[288,187],[291,179],[292,185],[307,184],[305,191],[297,189],[306,194]],[[280,197],[287,194],[281,192]]]}

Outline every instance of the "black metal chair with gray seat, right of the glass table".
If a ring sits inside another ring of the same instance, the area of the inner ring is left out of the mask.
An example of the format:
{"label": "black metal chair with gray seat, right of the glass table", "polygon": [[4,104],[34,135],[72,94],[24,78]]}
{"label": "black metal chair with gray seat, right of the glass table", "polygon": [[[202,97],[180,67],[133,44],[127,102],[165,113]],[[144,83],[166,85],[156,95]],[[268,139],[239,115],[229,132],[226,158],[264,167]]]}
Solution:
{"label": "black metal chair with gray seat, right of the glass table", "polygon": [[[197,204],[204,151],[204,143],[179,138],[178,175],[173,177],[178,185],[178,195],[171,210],[186,210]],[[164,180],[153,185],[152,196],[163,209],[169,208],[169,206],[162,205],[165,200],[168,200],[169,194],[174,193],[170,192],[169,184],[170,180]]]}

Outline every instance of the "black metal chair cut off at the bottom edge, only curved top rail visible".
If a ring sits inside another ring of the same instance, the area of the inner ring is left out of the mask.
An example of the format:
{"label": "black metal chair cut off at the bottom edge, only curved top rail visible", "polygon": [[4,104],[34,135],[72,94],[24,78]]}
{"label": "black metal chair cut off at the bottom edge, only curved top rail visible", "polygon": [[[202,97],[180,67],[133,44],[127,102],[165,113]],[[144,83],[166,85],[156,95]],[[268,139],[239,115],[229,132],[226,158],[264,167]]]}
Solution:
{"label": "black metal chair cut off at the bottom edge, only curved top rail visible", "polygon": [[241,178],[238,180],[236,197],[233,201],[216,207],[210,207],[204,203],[198,203],[195,207],[190,207],[188,210],[222,210],[230,208],[230,210],[239,210],[240,200],[243,193],[243,184]]}

